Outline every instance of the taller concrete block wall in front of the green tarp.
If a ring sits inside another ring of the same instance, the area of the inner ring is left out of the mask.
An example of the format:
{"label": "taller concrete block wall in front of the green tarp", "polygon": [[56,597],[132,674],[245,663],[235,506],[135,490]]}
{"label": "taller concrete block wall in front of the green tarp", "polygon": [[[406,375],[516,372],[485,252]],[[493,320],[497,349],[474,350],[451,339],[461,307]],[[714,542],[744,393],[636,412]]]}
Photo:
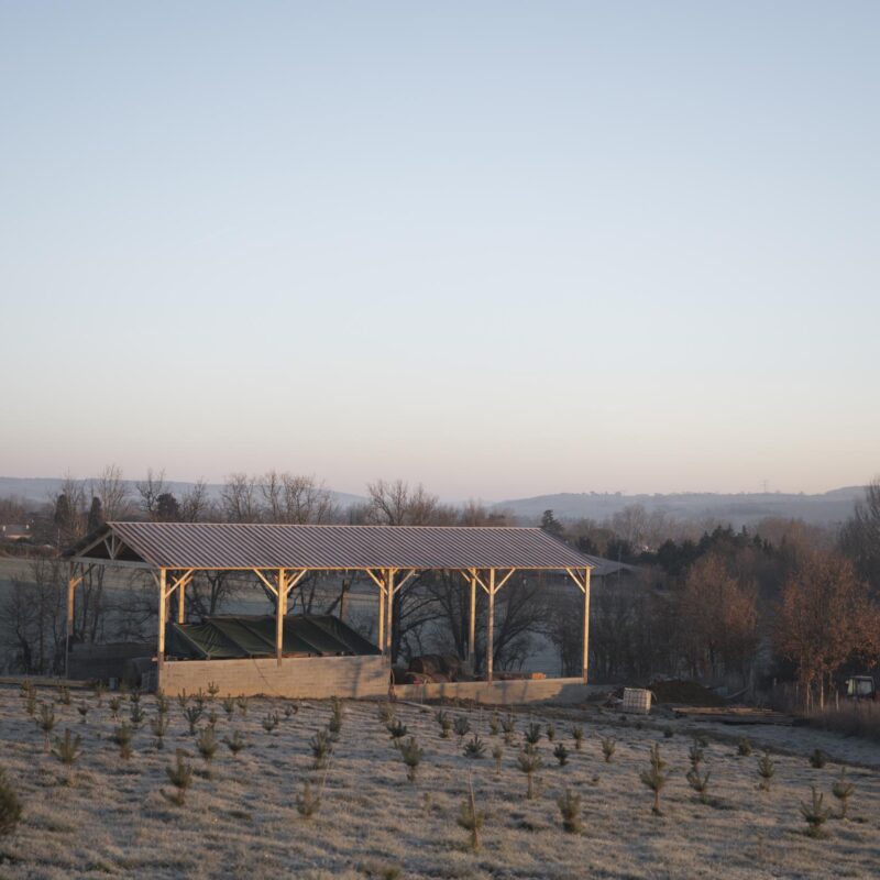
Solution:
{"label": "taller concrete block wall in front of the green tarp", "polygon": [[223,696],[363,697],[387,696],[388,678],[385,658],[377,656],[285,657],[280,667],[274,658],[169,660],[160,674],[160,688],[170,696],[205,691],[215,682]]}

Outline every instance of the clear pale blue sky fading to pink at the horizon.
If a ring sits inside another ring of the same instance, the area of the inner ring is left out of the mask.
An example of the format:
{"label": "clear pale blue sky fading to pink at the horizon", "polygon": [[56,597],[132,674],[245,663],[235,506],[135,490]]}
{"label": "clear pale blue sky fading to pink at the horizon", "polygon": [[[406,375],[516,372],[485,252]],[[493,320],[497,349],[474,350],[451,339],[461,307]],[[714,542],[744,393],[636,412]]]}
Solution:
{"label": "clear pale blue sky fading to pink at the horizon", "polygon": [[877,2],[0,2],[0,474],[880,472]]}

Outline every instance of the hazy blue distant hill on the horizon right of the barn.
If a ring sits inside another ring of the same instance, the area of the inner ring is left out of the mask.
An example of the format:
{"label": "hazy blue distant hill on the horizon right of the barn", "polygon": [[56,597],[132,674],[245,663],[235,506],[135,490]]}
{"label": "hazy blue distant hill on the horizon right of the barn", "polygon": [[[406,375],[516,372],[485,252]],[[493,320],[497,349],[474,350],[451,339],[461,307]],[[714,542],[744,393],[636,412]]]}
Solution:
{"label": "hazy blue distant hill on the horizon right of the barn", "polygon": [[536,520],[544,510],[553,510],[558,519],[587,517],[603,520],[630,504],[639,504],[648,512],[662,510],[678,519],[701,520],[712,517],[740,528],[766,517],[803,519],[815,525],[840,522],[853,514],[854,504],[861,501],[864,495],[865,490],[861,486],[846,486],[821,495],[781,492],[732,495],[561,492],[556,495],[537,495],[534,498],[514,498],[494,506],[496,509],[510,510],[524,520]]}

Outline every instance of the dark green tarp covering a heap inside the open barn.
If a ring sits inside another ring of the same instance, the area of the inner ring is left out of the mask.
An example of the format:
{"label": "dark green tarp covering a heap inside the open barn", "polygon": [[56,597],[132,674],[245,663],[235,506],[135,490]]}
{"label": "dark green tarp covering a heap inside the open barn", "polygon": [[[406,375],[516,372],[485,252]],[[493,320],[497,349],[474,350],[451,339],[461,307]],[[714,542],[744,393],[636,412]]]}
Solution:
{"label": "dark green tarp covering a heap inside the open barn", "polygon": [[[329,614],[285,617],[282,650],[286,657],[378,653],[375,645]],[[275,617],[218,616],[204,624],[168,623],[165,653],[184,660],[274,657]]]}

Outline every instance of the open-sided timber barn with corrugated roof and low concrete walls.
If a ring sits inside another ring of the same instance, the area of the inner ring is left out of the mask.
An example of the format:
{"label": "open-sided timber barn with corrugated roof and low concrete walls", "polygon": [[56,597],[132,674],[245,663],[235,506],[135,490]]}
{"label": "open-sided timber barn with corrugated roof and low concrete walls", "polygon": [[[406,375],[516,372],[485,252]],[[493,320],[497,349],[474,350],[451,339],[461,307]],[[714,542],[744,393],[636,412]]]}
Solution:
{"label": "open-sided timber barn with corrugated roof and low concrete walls", "polygon": [[[392,686],[393,615],[402,587],[419,572],[453,572],[470,597],[468,657],[476,647],[477,591],[487,602],[484,674],[479,681],[403,685],[405,695],[484,702],[579,698],[587,683],[593,561],[537,528],[458,526],[300,526],[107,522],[66,552],[68,641],[77,586],[94,566],[147,571],[158,594],[155,685],[168,694],[215,685],[223,694],[283,697],[382,696]],[[186,619],[197,572],[252,575],[273,598],[274,616]],[[289,615],[293,591],[315,571],[360,573],[376,588],[378,644],[332,615]],[[495,600],[517,572],[568,575],[583,597],[583,663],[576,678],[497,680]],[[70,645],[68,644],[68,653]]]}

